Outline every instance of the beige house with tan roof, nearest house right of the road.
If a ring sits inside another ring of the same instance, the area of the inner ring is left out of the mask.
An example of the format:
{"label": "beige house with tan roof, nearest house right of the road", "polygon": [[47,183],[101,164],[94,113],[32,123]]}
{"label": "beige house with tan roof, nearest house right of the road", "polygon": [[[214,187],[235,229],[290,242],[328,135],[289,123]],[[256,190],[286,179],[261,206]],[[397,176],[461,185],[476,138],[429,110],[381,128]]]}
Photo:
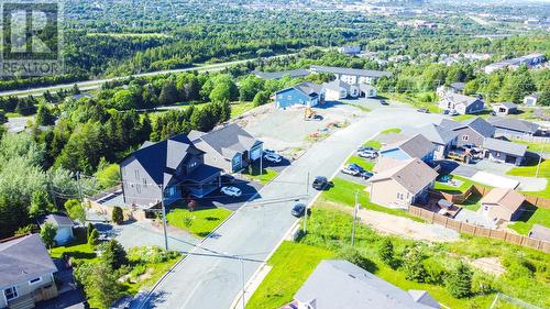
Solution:
{"label": "beige house with tan roof, nearest house right of the road", "polygon": [[428,198],[438,173],[419,158],[397,162],[381,159],[369,179],[371,201],[391,208],[408,208]]}

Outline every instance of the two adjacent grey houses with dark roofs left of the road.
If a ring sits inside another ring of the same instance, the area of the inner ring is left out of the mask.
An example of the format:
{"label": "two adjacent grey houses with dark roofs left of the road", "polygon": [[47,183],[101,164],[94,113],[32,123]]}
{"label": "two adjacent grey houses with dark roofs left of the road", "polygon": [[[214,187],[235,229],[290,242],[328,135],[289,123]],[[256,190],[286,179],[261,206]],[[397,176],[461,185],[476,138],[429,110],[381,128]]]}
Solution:
{"label": "two adjacent grey houses with dark roofs left of the road", "polygon": [[221,186],[222,174],[242,170],[262,155],[263,143],[234,123],[145,142],[120,165],[123,202],[151,209],[161,200],[205,197]]}

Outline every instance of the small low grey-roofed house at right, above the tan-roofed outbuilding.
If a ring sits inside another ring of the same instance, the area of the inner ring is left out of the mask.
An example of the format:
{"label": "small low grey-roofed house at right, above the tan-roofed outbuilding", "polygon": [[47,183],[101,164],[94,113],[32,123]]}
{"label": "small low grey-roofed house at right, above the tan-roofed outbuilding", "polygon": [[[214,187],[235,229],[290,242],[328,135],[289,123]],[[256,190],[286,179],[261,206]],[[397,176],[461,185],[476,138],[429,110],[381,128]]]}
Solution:
{"label": "small low grey-roofed house at right, above the tan-roofed outbuilding", "polygon": [[483,150],[485,158],[490,161],[521,165],[525,162],[527,145],[497,139],[485,139]]}

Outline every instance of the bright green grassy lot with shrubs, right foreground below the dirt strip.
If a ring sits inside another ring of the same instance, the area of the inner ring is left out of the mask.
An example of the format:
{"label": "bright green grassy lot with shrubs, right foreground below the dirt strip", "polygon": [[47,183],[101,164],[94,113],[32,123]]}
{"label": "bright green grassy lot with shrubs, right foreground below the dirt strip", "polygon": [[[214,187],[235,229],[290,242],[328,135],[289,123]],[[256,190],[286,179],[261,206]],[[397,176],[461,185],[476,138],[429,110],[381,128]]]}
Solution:
{"label": "bright green grassy lot with shrubs, right foreground below the dirt strip", "polygon": [[[252,296],[248,308],[275,309],[290,301],[315,265],[323,258],[339,256],[343,249],[349,247],[352,217],[338,210],[314,208],[308,228],[308,234],[301,238],[299,243],[285,242],[275,252],[270,261],[270,265],[273,266],[272,273]],[[400,266],[392,268],[382,263],[378,257],[378,246],[384,238],[360,224],[355,234],[355,249],[361,256],[366,258],[365,268],[369,272],[404,290],[427,290],[439,302],[450,308],[488,308],[495,297],[494,290],[541,308],[550,306],[550,299],[540,297],[550,294],[547,269],[550,255],[548,254],[484,238],[463,236],[462,241],[439,245],[427,245],[396,236],[389,238],[395,247],[395,258],[402,261],[403,260],[399,258],[403,258],[405,247],[420,247],[427,257],[422,263],[425,267],[431,266],[430,269],[439,267],[440,271],[436,272],[442,272],[441,274],[453,269],[459,260],[496,257],[503,262],[507,269],[505,275],[493,277],[475,269],[473,295],[469,298],[457,299],[444,287],[446,275],[440,279],[416,283],[406,278],[405,271]],[[309,254],[317,254],[317,256],[310,257]],[[319,255],[328,257],[319,257]],[[435,267],[435,265],[438,266]],[[531,271],[528,271],[525,265],[529,265]],[[430,273],[436,274],[435,271]],[[482,284],[492,289],[480,290]],[[515,307],[496,306],[496,308]]]}

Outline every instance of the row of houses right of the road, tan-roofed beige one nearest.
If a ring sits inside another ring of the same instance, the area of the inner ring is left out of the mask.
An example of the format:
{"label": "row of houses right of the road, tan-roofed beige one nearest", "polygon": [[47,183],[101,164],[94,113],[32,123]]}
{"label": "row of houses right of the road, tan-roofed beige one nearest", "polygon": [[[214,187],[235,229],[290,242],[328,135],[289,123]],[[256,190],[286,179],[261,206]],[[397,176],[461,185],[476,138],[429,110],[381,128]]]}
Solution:
{"label": "row of houses right of the road, tan-roofed beige one nearest", "polygon": [[404,132],[400,141],[380,151],[373,169],[375,175],[369,180],[371,201],[392,208],[425,202],[438,177],[435,161],[444,159],[461,148],[480,150],[480,157],[492,162],[521,165],[527,146],[495,139],[497,130],[508,126],[506,122],[521,120],[490,120],[492,122],[482,118],[462,122],[444,119],[439,124]]}

